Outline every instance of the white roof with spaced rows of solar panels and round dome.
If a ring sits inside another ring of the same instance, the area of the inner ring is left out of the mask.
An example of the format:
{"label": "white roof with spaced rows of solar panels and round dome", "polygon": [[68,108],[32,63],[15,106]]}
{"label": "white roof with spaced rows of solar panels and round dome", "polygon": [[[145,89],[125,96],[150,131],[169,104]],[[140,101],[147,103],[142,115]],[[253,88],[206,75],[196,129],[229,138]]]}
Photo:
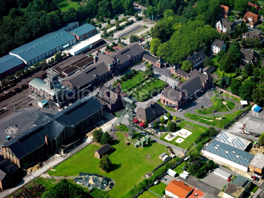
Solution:
{"label": "white roof with spaced rows of solar panels and round dome", "polygon": [[215,137],[215,140],[229,144],[230,146],[233,146],[241,150],[246,150],[248,145],[251,143],[246,139],[240,138],[236,135],[233,135],[225,131],[220,131],[220,133]]}

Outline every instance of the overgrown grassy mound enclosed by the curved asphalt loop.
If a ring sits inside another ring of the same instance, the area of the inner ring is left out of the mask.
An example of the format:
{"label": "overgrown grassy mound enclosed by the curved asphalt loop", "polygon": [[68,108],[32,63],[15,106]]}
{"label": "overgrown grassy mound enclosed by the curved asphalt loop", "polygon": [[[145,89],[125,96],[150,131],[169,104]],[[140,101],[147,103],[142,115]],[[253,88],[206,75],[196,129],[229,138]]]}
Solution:
{"label": "overgrown grassy mound enclosed by the curved asphalt loop", "polygon": [[208,114],[212,114],[213,110],[217,110],[217,112],[223,112],[223,111],[228,111],[227,106],[230,110],[234,109],[235,107],[235,103],[228,100],[225,100],[227,106],[224,105],[222,103],[222,99],[218,98],[217,96],[212,96],[211,100],[213,102],[212,107],[209,107],[208,109],[196,109],[195,111],[199,114],[208,115]]}

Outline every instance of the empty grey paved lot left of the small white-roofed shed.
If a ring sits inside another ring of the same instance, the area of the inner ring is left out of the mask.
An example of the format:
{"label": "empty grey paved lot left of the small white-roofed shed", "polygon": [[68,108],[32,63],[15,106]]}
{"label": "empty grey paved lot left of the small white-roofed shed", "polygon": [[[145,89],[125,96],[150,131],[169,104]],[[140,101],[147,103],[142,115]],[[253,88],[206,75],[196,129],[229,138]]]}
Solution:
{"label": "empty grey paved lot left of the small white-roofed shed", "polygon": [[221,190],[224,185],[227,185],[229,183],[225,178],[214,174],[213,171],[211,173],[206,173],[206,175],[201,179],[201,181],[219,190]]}

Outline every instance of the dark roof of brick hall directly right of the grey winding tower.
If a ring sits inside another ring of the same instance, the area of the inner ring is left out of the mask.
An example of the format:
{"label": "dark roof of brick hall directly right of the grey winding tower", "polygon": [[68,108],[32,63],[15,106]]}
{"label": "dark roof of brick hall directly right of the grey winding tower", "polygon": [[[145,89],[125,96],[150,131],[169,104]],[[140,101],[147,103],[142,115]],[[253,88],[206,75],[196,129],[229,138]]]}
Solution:
{"label": "dark roof of brick hall directly right of the grey winding tower", "polygon": [[88,67],[82,69],[81,71],[72,74],[63,79],[69,80],[74,86],[79,86],[83,88],[84,86],[88,86],[88,84],[93,81],[95,75],[102,76],[109,72],[108,67],[105,62],[97,62]]}

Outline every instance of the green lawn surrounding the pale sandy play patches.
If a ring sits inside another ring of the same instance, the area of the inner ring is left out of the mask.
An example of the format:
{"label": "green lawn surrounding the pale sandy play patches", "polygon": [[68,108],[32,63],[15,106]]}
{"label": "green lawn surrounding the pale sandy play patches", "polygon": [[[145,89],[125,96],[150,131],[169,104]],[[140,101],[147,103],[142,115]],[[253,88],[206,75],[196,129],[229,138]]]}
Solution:
{"label": "green lawn surrounding the pale sandy play patches", "polygon": [[[186,114],[185,114],[186,115]],[[191,125],[192,127],[194,127],[194,130],[191,130],[190,128],[188,128],[188,125]],[[200,125],[197,125],[197,124],[194,124],[194,123],[191,123],[191,122],[188,122],[186,120],[184,121],[181,121],[180,123],[177,124],[177,130],[180,130],[180,129],[187,129],[188,131],[191,131],[192,134],[189,135],[187,138],[183,138],[184,141],[182,141],[181,143],[176,143],[175,140],[177,140],[180,136],[176,136],[174,139],[172,139],[171,141],[168,141],[166,139],[164,139],[168,133],[165,133],[163,135],[161,135],[161,139],[164,141],[164,142],[168,142],[168,143],[171,143],[171,144],[174,144],[180,148],[188,148],[192,143],[194,143],[194,140],[197,138],[197,136],[199,136],[201,133],[205,132],[205,130],[207,129],[206,127],[204,126],[200,126]]]}

